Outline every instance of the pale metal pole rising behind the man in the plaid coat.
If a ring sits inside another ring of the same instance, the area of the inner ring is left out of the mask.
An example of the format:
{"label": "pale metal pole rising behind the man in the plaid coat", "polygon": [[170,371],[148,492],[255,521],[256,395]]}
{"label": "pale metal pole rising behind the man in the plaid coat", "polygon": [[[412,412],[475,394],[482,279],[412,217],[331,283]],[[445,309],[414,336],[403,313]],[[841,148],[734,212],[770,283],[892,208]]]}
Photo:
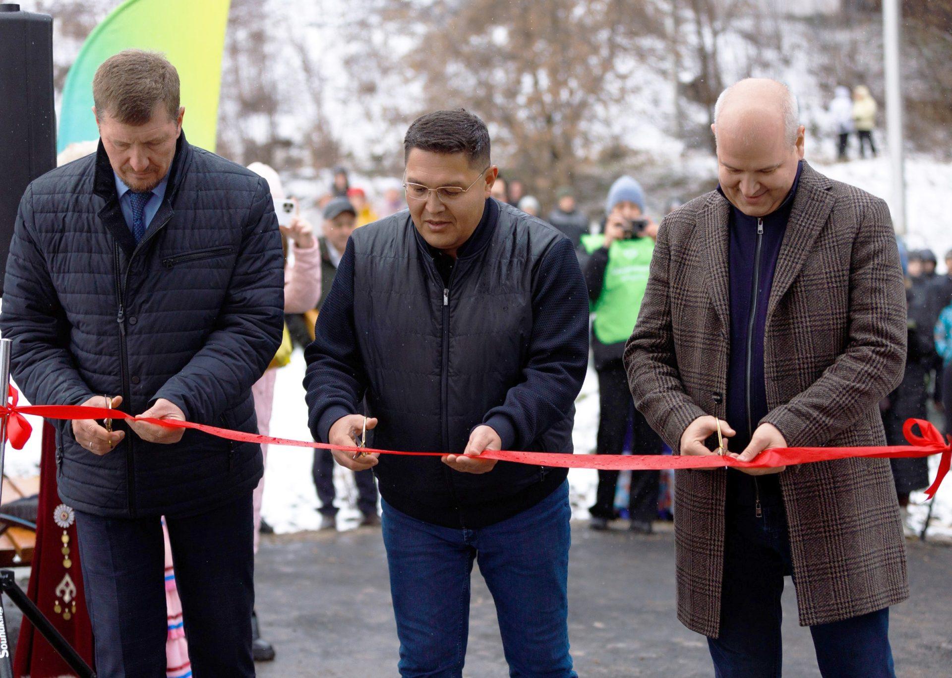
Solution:
{"label": "pale metal pole rising behind the man in the plaid coat", "polygon": [[883,0],[883,59],[886,79],[886,136],[892,169],[893,227],[905,235],[905,172],[902,153],[902,90],[900,89],[899,0]]}

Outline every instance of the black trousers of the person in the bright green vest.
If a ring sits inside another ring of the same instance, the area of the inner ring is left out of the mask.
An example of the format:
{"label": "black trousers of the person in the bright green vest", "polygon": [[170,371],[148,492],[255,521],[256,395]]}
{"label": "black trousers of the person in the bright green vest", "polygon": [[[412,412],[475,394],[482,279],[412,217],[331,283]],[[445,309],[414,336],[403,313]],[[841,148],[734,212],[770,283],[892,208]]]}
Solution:
{"label": "black trousers of the person in the bright green vest", "polygon": [[[598,454],[621,454],[625,445],[625,431],[632,423],[633,454],[661,454],[662,442],[644,415],[634,408],[628,377],[622,361],[611,362],[598,371],[599,407]],[[631,471],[631,490],[628,494],[628,517],[632,520],[653,521],[658,517],[658,485],[661,473],[656,470]],[[617,470],[599,470],[595,506],[590,513],[596,518],[615,517],[615,487]]]}

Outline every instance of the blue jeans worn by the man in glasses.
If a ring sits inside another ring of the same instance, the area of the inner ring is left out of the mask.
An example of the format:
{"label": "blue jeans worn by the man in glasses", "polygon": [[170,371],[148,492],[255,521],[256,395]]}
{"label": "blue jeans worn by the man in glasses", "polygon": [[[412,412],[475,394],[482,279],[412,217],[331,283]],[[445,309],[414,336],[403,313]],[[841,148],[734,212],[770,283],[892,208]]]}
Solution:
{"label": "blue jeans worn by the man in glasses", "polygon": [[487,528],[444,528],[383,502],[400,675],[463,675],[473,560],[496,603],[510,676],[575,678],[568,653],[568,483]]}

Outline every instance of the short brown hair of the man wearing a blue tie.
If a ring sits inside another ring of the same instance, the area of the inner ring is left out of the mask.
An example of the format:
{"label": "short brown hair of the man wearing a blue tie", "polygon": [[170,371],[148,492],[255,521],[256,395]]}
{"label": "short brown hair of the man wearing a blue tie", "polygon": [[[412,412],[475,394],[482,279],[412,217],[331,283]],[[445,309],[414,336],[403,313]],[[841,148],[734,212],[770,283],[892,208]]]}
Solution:
{"label": "short brown hair of the man wearing a blue tie", "polygon": [[178,71],[157,51],[123,50],[96,70],[92,99],[100,119],[110,115],[124,125],[144,125],[161,102],[174,120],[179,112]]}

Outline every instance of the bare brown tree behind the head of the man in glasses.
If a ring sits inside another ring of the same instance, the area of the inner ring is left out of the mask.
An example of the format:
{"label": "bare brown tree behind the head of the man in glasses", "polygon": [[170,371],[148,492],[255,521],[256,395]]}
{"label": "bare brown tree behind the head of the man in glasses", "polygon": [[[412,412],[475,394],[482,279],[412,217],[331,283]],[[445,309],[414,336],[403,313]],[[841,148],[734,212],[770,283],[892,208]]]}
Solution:
{"label": "bare brown tree behind the head of the man in glasses", "polygon": [[[497,158],[544,196],[585,172],[606,143],[610,116],[630,102],[633,73],[664,62],[664,16],[636,0],[379,0],[373,21],[412,45],[374,45],[351,60],[361,90],[403,78],[409,96],[393,119],[466,107],[486,119]],[[375,48],[375,49],[374,49]],[[360,64],[360,70],[354,66]]]}

